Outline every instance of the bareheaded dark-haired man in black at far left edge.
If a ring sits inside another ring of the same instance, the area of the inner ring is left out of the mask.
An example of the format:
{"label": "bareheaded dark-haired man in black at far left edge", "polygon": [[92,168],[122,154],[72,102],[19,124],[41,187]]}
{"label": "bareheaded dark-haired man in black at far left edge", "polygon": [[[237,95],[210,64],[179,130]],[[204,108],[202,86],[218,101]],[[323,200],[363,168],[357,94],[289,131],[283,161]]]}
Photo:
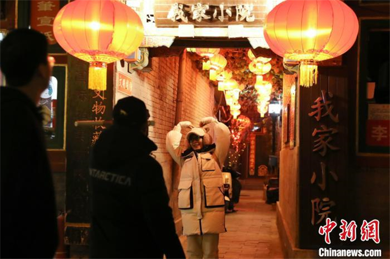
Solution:
{"label": "bareheaded dark-haired man in black at far left edge", "polygon": [[0,257],[53,258],[57,211],[42,117],[37,108],[52,63],[46,37],[10,32],[0,44]]}

